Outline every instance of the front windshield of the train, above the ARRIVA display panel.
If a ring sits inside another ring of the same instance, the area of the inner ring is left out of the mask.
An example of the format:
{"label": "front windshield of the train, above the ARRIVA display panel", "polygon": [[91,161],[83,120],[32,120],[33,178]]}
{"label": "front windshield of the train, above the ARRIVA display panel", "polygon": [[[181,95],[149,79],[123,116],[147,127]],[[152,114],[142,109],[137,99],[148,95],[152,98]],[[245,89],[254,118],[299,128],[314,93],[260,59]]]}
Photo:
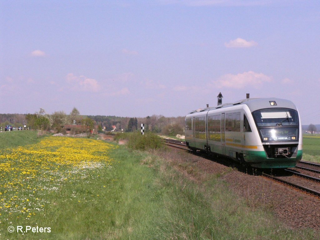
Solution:
{"label": "front windshield of the train, above the ARRIVA display panel", "polygon": [[293,109],[271,108],[252,113],[258,127],[299,126],[298,112]]}

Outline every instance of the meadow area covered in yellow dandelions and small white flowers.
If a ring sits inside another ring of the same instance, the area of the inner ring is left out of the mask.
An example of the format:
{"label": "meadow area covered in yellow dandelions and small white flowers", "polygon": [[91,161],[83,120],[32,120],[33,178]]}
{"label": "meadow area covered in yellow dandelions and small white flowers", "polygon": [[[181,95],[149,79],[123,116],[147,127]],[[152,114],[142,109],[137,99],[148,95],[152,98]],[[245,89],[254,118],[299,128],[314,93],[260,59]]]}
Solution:
{"label": "meadow area covered in yellow dandelions and small white flowers", "polygon": [[46,195],[61,184],[83,180],[91,169],[111,168],[108,153],[114,148],[98,140],[51,136],[0,151],[0,217],[31,219],[50,205]]}

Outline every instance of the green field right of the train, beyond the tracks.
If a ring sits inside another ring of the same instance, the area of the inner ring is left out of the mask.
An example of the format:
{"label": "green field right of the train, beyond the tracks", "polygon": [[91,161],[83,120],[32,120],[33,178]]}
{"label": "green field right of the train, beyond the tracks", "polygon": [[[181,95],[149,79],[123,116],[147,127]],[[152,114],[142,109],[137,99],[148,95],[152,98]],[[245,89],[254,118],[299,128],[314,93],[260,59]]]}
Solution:
{"label": "green field right of the train, beyond the tracks", "polygon": [[320,163],[320,136],[303,135],[302,160]]}

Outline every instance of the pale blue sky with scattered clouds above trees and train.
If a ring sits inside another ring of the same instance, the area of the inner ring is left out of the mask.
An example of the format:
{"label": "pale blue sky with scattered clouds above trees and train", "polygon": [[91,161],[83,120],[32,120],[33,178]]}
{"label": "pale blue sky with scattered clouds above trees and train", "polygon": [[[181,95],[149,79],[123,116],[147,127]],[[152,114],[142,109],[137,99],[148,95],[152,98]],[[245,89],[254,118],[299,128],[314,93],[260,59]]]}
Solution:
{"label": "pale blue sky with scattered clouds above trees and train", "polygon": [[320,1],[0,0],[0,112],[184,116],[292,100],[319,124]]}

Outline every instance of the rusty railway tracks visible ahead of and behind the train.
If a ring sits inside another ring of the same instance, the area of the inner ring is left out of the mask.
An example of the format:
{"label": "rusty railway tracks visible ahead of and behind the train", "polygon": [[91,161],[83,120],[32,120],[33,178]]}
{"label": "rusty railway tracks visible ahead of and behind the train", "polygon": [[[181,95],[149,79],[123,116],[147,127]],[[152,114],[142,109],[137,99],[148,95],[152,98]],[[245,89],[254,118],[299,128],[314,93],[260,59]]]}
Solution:
{"label": "rusty railway tracks visible ahead of and behind the train", "polygon": [[[168,146],[189,150],[184,141],[172,139],[162,139],[162,141]],[[320,164],[300,161],[295,168],[281,171],[279,176],[264,172],[260,172],[259,175],[320,197]]]}

